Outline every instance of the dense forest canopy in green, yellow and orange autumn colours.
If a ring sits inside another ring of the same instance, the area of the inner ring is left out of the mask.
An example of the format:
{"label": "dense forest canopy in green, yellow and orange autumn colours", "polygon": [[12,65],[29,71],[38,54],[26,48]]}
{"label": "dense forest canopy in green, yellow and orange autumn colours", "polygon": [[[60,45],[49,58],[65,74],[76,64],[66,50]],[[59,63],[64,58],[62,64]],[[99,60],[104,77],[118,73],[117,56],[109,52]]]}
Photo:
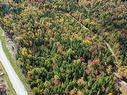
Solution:
{"label": "dense forest canopy in green, yellow and orange autumn colours", "polygon": [[14,0],[0,15],[35,95],[120,95],[126,0]]}

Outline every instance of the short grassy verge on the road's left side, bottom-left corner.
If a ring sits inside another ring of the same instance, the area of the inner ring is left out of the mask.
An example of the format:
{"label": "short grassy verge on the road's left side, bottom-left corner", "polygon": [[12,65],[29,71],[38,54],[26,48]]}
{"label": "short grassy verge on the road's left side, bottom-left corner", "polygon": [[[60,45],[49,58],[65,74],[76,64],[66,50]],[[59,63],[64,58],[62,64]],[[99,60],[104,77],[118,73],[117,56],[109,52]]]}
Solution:
{"label": "short grassy verge on the road's left side, bottom-left corner", "polygon": [[7,82],[7,86],[8,86],[8,90],[7,90],[7,95],[16,95],[16,92],[8,78],[8,75],[4,69],[4,67],[2,66],[2,64],[0,63],[0,69],[2,70],[2,72],[4,73],[3,79]]}

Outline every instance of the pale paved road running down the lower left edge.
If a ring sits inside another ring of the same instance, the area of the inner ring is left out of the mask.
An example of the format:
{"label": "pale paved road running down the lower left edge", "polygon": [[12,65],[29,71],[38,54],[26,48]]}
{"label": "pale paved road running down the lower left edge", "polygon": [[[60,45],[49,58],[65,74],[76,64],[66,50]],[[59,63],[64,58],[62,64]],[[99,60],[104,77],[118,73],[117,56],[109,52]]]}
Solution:
{"label": "pale paved road running down the lower left edge", "polygon": [[18,75],[14,71],[13,67],[11,66],[9,60],[7,59],[7,57],[3,51],[1,41],[0,41],[0,61],[8,74],[8,77],[12,83],[12,86],[16,91],[16,94],[17,95],[27,95],[27,91],[26,91],[23,83],[18,78]]}

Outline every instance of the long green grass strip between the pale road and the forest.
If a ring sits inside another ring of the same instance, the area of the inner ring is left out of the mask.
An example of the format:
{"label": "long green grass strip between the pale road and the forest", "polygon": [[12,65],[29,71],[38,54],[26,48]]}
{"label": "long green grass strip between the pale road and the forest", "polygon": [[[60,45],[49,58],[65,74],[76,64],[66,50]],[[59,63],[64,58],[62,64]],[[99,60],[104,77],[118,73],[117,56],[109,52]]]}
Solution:
{"label": "long green grass strip between the pale road and the forest", "polygon": [[14,68],[15,72],[17,73],[19,79],[23,82],[23,84],[24,84],[24,86],[25,86],[25,88],[28,92],[28,95],[32,95],[31,94],[31,89],[28,85],[28,82],[26,81],[25,77],[22,75],[21,69],[13,61],[12,55],[11,55],[11,53],[9,52],[9,50],[6,46],[7,42],[5,40],[5,37],[3,36],[3,30],[2,30],[1,27],[0,27],[0,40],[1,40],[1,43],[2,43],[3,50],[4,50],[8,60],[10,61],[12,67]]}

